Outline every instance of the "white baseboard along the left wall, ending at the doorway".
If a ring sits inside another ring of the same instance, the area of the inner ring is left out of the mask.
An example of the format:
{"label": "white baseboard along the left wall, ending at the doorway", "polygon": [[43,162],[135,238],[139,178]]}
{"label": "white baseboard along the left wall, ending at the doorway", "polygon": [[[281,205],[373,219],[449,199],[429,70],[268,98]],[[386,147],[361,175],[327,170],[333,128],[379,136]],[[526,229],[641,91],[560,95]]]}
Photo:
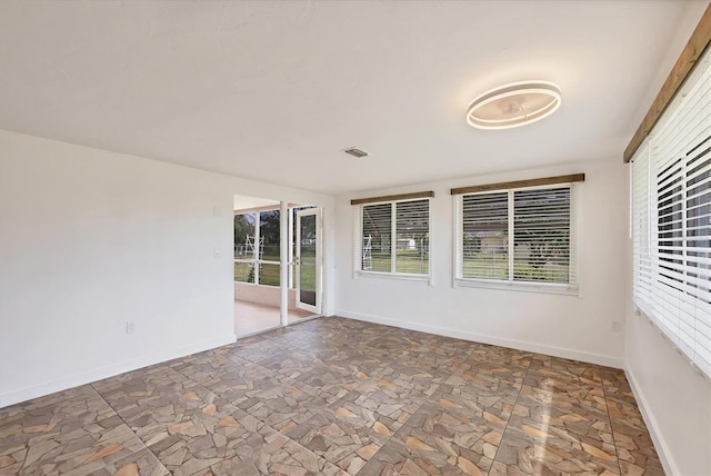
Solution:
{"label": "white baseboard along the left wall, ending at the doorway", "polygon": [[149,365],[160,364],[174,358],[184,357],[190,354],[197,354],[203,350],[213,349],[228,344],[232,344],[234,341],[234,335],[229,335],[217,339],[202,340],[200,343],[194,343],[186,347],[163,350],[161,353],[152,354],[137,359],[122,361],[117,365],[83,371],[81,374],[60,378],[59,380],[34,385],[32,387],[26,387],[20,390],[8,391],[4,394],[0,394],[0,408],[30,400],[32,398],[42,397],[44,395],[53,394],[54,391],[67,390],[68,388],[90,384],[92,381],[101,380],[102,378],[112,377],[114,375],[136,370]]}

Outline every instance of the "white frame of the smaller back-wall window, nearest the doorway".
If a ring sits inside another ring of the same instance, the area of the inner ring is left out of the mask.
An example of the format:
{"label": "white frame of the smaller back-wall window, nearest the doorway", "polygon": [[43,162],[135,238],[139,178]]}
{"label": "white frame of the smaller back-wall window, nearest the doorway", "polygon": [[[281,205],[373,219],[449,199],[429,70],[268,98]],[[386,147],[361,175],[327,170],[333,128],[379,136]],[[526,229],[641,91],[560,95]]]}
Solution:
{"label": "white frame of the smaller back-wall window, nearest the doorway", "polygon": [[[428,252],[427,252],[427,261],[428,261],[428,272],[427,274],[413,274],[413,272],[398,272],[397,269],[397,208],[398,204],[407,204],[412,201],[427,201],[427,221],[428,221]],[[391,268],[390,271],[372,271],[362,269],[363,265],[363,210],[369,206],[377,205],[390,205],[391,206],[391,216],[390,216],[390,227],[391,227],[391,242],[390,242],[390,251],[391,251]],[[394,200],[382,200],[382,201],[368,201],[363,204],[356,205],[356,212],[353,214],[353,278],[365,277],[365,278],[383,278],[383,279],[399,279],[399,280],[409,280],[409,281],[427,281],[430,286],[432,285],[432,197],[417,197],[417,198],[403,198],[403,199],[394,199]]]}

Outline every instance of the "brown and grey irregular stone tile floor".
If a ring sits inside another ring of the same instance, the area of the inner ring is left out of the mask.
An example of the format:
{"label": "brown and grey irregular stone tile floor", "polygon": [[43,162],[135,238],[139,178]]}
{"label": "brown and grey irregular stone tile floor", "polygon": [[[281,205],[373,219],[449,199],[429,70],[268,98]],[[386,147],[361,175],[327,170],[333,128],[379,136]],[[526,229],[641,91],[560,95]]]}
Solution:
{"label": "brown and grey irregular stone tile floor", "polygon": [[321,318],[0,409],[1,475],[658,475],[621,370]]}

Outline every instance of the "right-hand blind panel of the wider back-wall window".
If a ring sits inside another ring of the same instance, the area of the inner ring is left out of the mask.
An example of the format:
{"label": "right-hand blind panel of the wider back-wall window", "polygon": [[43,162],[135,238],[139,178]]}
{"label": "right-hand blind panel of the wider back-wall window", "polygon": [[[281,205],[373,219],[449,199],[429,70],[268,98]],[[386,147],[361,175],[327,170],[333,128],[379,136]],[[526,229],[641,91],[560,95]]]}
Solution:
{"label": "right-hand blind panel of the wider back-wall window", "polygon": [[513,279],[574,282],[570,187],[513,192]]}

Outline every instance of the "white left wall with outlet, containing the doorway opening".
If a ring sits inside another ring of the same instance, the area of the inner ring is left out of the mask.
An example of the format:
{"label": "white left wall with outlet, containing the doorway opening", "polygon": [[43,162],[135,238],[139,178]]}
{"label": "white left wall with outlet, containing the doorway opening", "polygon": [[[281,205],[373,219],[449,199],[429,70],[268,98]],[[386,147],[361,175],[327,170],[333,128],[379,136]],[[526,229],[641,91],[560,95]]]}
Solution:
{"label": "white left wall with outlet, containing the doorway opening", "polygon": [[233,194],[331,220],[330,197],[0,131],[0,407],[233,341]]}

